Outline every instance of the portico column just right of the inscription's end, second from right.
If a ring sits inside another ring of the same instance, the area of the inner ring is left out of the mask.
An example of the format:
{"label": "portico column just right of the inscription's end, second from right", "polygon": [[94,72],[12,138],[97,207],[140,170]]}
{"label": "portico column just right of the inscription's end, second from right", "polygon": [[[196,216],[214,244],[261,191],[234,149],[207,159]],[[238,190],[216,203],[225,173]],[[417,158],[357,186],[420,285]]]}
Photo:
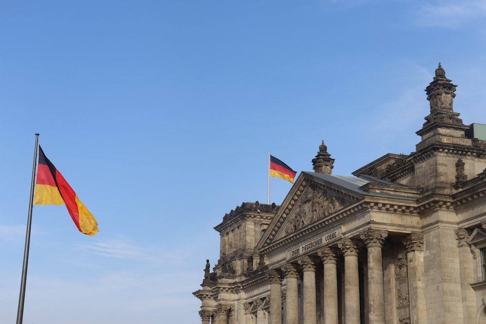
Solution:
{"label": "portico column just right of the inscription's end, second from right", "polygon": [[346,238],[342,239],[338,246],[344,255],[345,323],[360,323],[359,242]]}

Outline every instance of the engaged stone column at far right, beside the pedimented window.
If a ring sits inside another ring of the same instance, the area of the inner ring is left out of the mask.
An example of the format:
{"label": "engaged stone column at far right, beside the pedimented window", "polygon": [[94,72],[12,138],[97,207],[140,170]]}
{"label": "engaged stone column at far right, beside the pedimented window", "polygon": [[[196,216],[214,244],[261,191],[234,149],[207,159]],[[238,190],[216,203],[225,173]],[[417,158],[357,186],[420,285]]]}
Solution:
{"label": "engaged stone column at far right, beside the pedimented window", "polygon": [[461,290],[464,323],[475,323],[476,321],[476,304],[475,293],[471,288],[474,279],[474,259],[471,253],[471,247],[468,244],[469,232],[464,228],[455,231],[457,247],[459,249],[459,264],[461,265]]}

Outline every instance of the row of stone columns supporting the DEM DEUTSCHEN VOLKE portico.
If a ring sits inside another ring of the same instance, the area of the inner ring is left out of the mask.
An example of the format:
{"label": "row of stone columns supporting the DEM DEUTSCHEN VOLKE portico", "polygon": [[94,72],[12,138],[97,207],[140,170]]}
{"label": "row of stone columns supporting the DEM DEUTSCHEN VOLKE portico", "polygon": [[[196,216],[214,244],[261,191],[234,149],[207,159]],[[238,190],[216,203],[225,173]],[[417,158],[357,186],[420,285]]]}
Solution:
{"label": "row of stone columns supporting the DEM DEUTSCHEN VOLKE portico", "polygon": [[[324,324],[336,324],[340,321],[347,324],[361,323],[360,316],[360,279],[358,254],[364,248],[367,252],[367,293],[366,316],[367,323],[385,324],[385,300],[383,289],[383,262],[382,247],[388,232],[378,229],[367,229],[360,233],[359,238],[344,238],[334,244],[326,246],[311,255],[300,256],[291,260],[278,269],[269,269],[270,301],[269,324],[298,324],[299,314],[303,324],[315,324],[317,322],[316,270],[322,263],[323,267],[323,294],[321,296],[324,309]],[[420,261],[423,253],[423,235],[412,233],[403,240],[407,250],[408,267],[414,271],[408,271],[410,296],[424,296],[423,285],[423,261]],[[418,256],[416,257],[416,253]],[[344,288],[338,293],[338,260],[344,259]],[[302,309],[299,309],[298,279],[302,274]],[[282,320],[282,281],[285,279],[285,322]],[[338,296],[343,295],[342,305],[339,309]],[[417,302],[413,300],[411,303]],[[424,323],[424,316],[420,311],[410,311],[411,323]],[[420,307],[418,307],[420,309]],[[218,309],[218,313],[226,313],[230,308]],[[228,324],[226,316],[218,316],[218,324]],[[203,324],[209,324],[208,317],[201,316]],[[231,322],[231,321],[229,321]],[[233,324],[233,323],[229,323]]]}

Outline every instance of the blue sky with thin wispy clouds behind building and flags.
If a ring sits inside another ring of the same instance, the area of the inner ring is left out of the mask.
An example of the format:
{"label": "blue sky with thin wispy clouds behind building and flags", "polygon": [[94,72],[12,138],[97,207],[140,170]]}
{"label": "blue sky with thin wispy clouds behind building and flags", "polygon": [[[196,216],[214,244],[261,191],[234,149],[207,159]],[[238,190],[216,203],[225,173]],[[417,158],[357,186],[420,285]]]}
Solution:
{"label": "blue sky with thin wispy clouds behind building and flags", "polygon": [[[34,206],[26,324],[199,323],[213,227],[267,155],[350,175],[415,151],[438,62],[486,123],[484,0],[0,1],[0,324],[17,316],[35,133],[94,214]],[[271,180],[280,204],[291,184]]]}

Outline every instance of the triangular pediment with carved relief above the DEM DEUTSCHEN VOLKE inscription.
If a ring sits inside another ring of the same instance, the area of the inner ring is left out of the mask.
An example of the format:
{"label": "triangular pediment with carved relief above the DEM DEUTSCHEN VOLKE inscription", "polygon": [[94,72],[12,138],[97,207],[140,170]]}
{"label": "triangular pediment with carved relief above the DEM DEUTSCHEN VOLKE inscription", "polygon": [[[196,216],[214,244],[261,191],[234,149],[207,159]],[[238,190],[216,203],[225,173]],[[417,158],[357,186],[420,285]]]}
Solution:
{"label": "triangular pediment with carved relief above the DEM DEUTSCHEN VOLKE inscription", "polygon": [[356,177],[301,172],[257,248],[292,236],[363,199],[360,187],[366,182]]}

